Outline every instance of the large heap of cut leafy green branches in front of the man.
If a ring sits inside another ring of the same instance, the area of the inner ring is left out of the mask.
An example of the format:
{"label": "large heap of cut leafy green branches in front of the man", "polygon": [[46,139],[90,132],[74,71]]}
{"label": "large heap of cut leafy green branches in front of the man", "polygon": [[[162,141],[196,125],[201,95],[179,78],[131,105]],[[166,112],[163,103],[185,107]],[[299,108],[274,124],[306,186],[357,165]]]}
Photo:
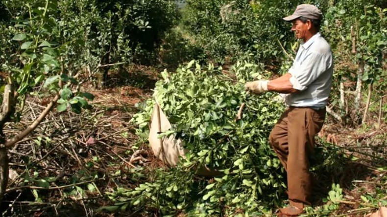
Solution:
{"label": "large heap of cut leafy green branches in front of the man", "polygon": [[[110,194],[116,206],[109,209],[154,208],[163,215],[184,210],[204,216],[242,209],[257,215],[279,205],[284,173],[267,138],[283,105],[272,100],[272,93],[250,95],[243,85],[261,77],[260,68],[238,63],[224,73],[192,61],[175,73],[162,72],[164,80],[156,83],[154,97],[172,125],[168,133],[180,136],[189,152],[176,167],[150,173],[138,187],[118,188]],[[147,137],[154,103],[147,100],[133,117],[140,137]],[[235,120],[242,103],[242,119]],[[195,175],[195,168],[204,165],[223,175]]]}

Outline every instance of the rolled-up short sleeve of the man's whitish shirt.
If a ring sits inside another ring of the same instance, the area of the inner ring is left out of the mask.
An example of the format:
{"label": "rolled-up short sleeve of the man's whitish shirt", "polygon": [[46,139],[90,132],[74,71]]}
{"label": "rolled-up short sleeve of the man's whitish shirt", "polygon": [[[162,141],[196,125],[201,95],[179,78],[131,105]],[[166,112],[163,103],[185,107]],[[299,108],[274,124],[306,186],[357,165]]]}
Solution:
{"label": "rolled-up short sleeve of the man's whitish shirt", "polygon": [[302,64],[292,65],[289,73],[291,74],[290,83],[294,89],[305,90],[314,82],[330,65],[332,58],[318,52],[311,52],[305,57]]}

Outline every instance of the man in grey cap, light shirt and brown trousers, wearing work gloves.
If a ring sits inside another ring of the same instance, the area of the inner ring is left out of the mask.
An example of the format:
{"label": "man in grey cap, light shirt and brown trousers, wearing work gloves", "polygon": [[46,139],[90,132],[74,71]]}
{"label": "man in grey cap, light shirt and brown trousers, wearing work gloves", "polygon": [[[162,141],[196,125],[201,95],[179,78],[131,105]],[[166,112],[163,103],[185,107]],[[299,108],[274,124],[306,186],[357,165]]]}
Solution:
{"label": "man in grey cap, light shirt and brown trousers, wearing work gloves", "polygon": [[302,40],[288,73],[270,81],[247,82],[246,90],[256,94],[265,91],[286,93],[289,108],[269,136],[288,174],[290,206],[280,209],[279,216],[298,216],[305,205],[311,205],[311,175],[308,157],[314,150],[314,135],[325,119],[333,74],[333,57],[329,44],[319,32],[321,11],[310,4],[297,6],[284,20],[292,22],[291,31]]}

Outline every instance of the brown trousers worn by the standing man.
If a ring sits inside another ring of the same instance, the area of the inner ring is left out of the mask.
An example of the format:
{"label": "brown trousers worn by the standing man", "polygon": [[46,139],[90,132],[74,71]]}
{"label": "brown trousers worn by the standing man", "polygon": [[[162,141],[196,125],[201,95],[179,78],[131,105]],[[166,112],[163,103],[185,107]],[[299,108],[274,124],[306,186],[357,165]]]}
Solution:
{"label": "brown trousers worn by the standing man", "polygon": [[325,109],[290,107],[269,136],[270,145],[288,174],[290,204],[298,208],[311,205],[308,157],[314,151],[314,135],[321,130],[324,119]]}

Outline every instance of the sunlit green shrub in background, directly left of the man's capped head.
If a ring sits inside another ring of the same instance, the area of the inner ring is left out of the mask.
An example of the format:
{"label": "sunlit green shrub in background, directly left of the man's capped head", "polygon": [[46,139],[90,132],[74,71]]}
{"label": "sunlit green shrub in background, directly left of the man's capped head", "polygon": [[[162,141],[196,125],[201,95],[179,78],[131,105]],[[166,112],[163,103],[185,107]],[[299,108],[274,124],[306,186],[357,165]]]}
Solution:
{"label": "sunlit green shrub in background, directly left of the man's capped head", "polygon": [[[277,63],[294,42],[290,23],[282,20],[293,13],[300,0],[187,0],[184,26],[192,32],[207,57],[217,63],[235,63],[249,58],[258,63]],[[325,11],[326,1],[310,1]],[[277,63],[278,64],[278,63]]]}

